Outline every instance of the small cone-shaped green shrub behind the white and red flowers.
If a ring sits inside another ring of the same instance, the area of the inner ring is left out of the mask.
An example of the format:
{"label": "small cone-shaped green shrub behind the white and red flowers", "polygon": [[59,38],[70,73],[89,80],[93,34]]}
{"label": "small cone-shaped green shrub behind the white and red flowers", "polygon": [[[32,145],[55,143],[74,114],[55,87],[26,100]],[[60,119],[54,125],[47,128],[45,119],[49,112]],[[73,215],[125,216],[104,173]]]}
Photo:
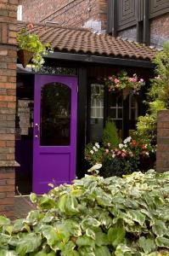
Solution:
{"label": "small cone-shaped green shrub behind the white and red flowers", "polygon": [[108,120],[105,124],[103,131],[103,143],[110,143],[111,146],[117,146],[121,143],[121,139],[118,137],[117,129],[113,121]]}

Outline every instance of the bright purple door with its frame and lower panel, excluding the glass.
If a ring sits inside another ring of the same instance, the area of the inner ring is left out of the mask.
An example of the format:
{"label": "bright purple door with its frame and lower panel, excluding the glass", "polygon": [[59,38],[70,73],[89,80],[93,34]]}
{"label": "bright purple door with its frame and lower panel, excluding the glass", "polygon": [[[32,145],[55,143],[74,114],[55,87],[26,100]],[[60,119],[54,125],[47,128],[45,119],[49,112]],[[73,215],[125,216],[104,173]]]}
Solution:
{"label": "bright purple door with its frame and lower panel, excluding the glass", "polygon": [[[41,131],[41,90],[49,83],[61,83],[71,90],[70,102],[70,145],[41,146],[37,128]],[[33,132],[33,192],[47,193],[48,183],[59,185],[71,183],[76,177],[76,118],[77,78],[68,76],[35,76],[34,132]]]}

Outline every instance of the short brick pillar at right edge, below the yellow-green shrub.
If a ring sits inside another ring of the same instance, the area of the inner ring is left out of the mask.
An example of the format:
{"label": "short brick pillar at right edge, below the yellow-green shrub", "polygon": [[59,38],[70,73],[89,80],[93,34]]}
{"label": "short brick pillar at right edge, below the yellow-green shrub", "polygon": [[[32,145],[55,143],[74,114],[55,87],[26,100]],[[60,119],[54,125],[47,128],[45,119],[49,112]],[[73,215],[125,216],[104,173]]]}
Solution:
{"label": "short brick pillar at right edge, below the yellow-green shrub", "polygon": [[169,171],[169,110],[161,110],[157,117],[157,172]]}

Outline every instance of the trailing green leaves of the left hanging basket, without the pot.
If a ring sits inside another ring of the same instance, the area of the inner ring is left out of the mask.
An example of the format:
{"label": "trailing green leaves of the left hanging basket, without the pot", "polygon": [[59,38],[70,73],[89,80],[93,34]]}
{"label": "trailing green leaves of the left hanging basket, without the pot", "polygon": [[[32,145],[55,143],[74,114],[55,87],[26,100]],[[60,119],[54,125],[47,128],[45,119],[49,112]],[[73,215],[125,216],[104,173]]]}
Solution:
{"label": "trailing green leaves of the left hanging basket, without the pot", "polygon": [[33,25],[29,24],[26,28],[20,30],[17,34],[17,43],[19,49],[25,49],[33,53],[31,61],[33,62],[35,69],[39,70],[44,63],[42,55],[47,55],[51,50],[49,44],[42,44],[38,35],[31,32]]}

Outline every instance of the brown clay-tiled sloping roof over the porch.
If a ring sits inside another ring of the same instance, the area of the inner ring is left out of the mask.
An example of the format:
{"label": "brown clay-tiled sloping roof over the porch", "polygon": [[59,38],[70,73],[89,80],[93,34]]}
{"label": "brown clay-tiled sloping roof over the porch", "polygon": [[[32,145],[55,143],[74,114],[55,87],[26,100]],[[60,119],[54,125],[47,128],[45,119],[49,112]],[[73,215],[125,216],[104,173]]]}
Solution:
{"label": "brown clay-tiled sloping roof over the porch", "polygon": [[[18,31],[25,23],[18,24]],[[42,43],[49,43],[54,51],[76,54],[129,58],[151,61],[156,49],[115,38],[107,34],[96,34],[85,28],[58,26],[55,24],[37,24],[31,32],[36,32]]]}

